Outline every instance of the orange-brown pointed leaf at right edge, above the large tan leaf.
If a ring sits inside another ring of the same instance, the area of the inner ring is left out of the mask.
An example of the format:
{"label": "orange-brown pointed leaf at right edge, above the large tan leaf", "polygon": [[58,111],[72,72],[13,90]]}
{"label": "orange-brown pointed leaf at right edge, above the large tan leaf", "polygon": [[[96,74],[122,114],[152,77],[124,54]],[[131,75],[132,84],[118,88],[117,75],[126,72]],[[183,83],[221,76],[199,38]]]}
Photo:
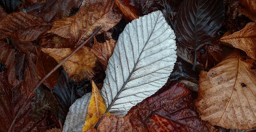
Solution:
{"label": "orange-brown pointed leaf at right edge, above the large tan leaf", "polygon": [[242,30],[222,37],[220,40],[242,49],[256,60],[256,22],[249,22]]}

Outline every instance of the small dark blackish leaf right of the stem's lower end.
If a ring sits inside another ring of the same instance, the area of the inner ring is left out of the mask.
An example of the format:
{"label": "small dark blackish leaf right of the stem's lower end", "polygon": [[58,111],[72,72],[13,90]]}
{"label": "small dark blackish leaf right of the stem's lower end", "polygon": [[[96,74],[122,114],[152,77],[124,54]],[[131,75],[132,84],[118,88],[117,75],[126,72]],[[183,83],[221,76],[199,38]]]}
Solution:
{"label": "small dark blackish leaf right of the stem's lower end", "polygon": [[35,122],[39,121],[45,116],[45,110],[51,110],[55,117],[58,117],[58,102],[54,98],[51,92],[39,87],[35,91],[34,101],[32,105],[31,119]]}

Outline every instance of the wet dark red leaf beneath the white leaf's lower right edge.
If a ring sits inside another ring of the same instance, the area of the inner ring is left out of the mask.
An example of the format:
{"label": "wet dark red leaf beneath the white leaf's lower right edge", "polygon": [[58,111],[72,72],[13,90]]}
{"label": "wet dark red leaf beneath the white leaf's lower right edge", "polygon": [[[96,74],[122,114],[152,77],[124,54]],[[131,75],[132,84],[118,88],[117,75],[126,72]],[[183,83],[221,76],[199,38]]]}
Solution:
{"label": "wet dark red leaf beneath the white leaf's lower right edge", "polygon": [[126,116],[129,117],[134,132],[209,130],[191,107],[191,103],[189,89],[182,83],[173,83],[132,107]]}

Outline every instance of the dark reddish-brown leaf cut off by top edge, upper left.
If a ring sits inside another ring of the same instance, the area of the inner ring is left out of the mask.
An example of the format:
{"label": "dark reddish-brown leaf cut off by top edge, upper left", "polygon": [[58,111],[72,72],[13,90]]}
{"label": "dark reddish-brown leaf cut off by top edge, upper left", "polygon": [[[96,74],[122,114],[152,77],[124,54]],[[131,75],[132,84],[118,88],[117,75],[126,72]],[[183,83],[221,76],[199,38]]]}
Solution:
{"label": "dark reddish-brown leaf cut off by top edge, upper left", "polygon": [[72,9],[78,9],[83,0],[47,0],[38,4],[25,4],[28,13],[33,13],[45,22],[58,20],[72,15]]}

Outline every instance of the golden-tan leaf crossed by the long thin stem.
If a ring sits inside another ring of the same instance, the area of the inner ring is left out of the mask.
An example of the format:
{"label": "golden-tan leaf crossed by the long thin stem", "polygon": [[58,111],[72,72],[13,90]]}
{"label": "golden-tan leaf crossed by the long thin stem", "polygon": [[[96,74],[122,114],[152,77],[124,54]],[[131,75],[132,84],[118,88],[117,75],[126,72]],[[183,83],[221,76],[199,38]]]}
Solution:
{"label": "golden-tan leaf crossed by the long thin stem", "polygon": [[[70,48],[50,49],[42,48],[42,51],[52,56],[58,63],[74,51]],[[94,76],[94,66],[97,58],[89,47],[83,47],[71,56],[62,67],[73,81],[79,82],[85,78]]]}

